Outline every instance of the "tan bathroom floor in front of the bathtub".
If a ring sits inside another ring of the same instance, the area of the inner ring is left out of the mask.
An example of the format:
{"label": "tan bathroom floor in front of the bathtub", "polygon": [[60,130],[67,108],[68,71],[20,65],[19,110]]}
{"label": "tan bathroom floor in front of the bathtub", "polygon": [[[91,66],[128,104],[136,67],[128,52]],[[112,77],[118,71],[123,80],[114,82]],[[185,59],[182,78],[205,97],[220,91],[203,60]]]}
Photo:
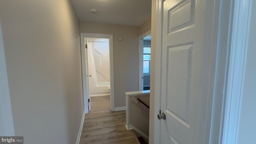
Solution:
{"label": "tan bathroom floor in front of the bathtub", "polygon": [[110,96],[93,96],[91,97],[91,111],[93,112],[104,112],[110,111]]}

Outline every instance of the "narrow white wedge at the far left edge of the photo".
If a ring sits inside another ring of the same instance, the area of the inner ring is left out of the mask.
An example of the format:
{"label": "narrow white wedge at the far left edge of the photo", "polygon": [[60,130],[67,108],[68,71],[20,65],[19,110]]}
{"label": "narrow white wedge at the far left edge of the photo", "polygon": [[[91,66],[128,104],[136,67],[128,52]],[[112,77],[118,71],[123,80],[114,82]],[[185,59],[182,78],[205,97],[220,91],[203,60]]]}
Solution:
{"label": "narrow white wedge at the far left edge of the photo", "polygon": [[4,43],[0,21],[0,136],[14,136]]}

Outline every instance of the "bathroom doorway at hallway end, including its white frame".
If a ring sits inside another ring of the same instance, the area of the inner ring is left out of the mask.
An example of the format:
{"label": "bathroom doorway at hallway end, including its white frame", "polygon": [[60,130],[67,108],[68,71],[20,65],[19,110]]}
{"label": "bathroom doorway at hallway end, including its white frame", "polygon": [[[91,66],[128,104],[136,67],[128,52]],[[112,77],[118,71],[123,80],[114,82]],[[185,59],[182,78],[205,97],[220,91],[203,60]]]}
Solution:
{"label": "bathroom doorway at hallway end, including its white frame", "polygon": [[81,33],[84,112],[114,109],[112,35]]}

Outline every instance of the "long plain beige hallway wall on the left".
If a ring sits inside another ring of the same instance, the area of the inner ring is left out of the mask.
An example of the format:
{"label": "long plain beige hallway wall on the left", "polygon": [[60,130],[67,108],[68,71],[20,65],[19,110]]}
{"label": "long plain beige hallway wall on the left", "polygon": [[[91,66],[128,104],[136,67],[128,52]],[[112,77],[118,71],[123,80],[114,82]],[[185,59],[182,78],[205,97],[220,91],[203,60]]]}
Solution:
{"label": "long plain beige hallway wall on the left", "polygon": [[74,144],[83,116],[79,20],[69,0],[1,0],[16,136]]}

